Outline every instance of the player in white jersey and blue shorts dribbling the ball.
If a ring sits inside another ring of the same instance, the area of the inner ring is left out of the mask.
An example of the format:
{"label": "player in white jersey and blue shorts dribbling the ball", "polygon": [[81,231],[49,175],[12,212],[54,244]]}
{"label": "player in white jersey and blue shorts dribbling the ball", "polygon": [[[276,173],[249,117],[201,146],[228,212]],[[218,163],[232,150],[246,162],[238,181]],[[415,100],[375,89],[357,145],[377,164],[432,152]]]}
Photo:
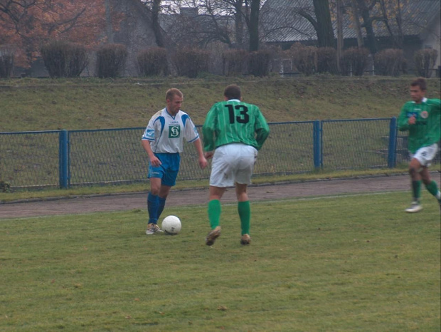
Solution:
{"label": "player in white jersey and blue shorts dribbling the ball", "polygon": [[196,147],[199,167],[203,169],[207,165],[198,131],[188,114],[181,110],[183,101],[184,95],[180,90],[176,88],[167,90],[166,108],[152,116],[142,135],[142,147],[149,155],[147,235],[162,232],[157,222],[164,210],[171,187],[176,185],[181,162],[179,154],[183,151],[184,138],[187,142],[193,142]]}

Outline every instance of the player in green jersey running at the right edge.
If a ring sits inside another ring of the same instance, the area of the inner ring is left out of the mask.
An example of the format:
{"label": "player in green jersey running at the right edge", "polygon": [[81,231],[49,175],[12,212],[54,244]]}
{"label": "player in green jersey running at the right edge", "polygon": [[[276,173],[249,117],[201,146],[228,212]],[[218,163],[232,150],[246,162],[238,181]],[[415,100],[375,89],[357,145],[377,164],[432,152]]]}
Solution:
{"label": "player in green jersey running at the right edge", "polygon": [[430,194],[438,199],[441,208],[441,192],[437,182],[430,179],[428,168],[438,151],[441,104],[440,99],[425,98],[426,86],[424,78],[417,78],[410,83],[410,97],[413,101],[404,104],[398,117],[398,130],[409,131],[409,174],[412,180],[413,202],[405,211],[410,213],[423,209],[420,204],[422,181]]}

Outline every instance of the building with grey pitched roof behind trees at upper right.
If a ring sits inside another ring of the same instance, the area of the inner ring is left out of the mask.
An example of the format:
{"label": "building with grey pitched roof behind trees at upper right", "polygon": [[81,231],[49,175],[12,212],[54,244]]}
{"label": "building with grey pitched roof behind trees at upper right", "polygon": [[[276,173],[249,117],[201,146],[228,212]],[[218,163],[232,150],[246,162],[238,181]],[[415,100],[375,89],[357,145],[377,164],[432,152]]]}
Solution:
{"label": "building with grey pitched roof behind trees at upper right", "polygon": [[[413,53],[422,48],[437,50],[435,68],[440,66],[440,1],[439,0],[404,0],[400,11],[402,24],[389,20],[389,28],[383,21],[373,22],[378,49],[393,47],[393,36],[402,36],[402,48],[408,59],[410,70],[413,68]],[[287,49],[293,43],[315,45],[317,33],[312,24],[300,15],[304,11],[315,19],[312,0],[267,0],[262,6],[261,24],[263,41]],[[373,12],[373,14],[378,14]],[[344,48],[357,46],[356,29],[349,11],[343,16],[342,30]],[[334,36],[337,36],[336,21],[333,21]],[[400,33],[401,31],[401,33]],[[366,31],[361,28],[366,45]],[[392,36],[393,35],[393,36]]]}

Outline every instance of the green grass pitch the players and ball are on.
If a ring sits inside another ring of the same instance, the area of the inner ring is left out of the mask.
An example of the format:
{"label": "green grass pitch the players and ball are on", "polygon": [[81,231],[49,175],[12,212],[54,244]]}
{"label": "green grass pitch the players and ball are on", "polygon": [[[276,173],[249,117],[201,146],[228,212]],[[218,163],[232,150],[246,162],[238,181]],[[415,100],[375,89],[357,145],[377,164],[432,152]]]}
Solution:
{"label": "green grass pitch the players and ball are on", "polygon": [[440,211],[408,192],[235,204],[213,247],[206,206],[0,223],[1,331],[440,331]]}

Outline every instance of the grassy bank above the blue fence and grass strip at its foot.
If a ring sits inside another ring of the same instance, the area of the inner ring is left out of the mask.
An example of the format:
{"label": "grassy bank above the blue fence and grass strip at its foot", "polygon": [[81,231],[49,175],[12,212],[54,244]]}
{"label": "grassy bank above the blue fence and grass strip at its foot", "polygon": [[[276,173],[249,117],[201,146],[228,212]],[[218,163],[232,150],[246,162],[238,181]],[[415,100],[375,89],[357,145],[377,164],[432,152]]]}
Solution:
{"label": "grassy bank above the blue fence and grass strip at its foot", "polygon": [[[31,79],[0,81],[0,132],[26,130],[76,130],[132,128],[147,125],[149,118],[164,107],[168,88],[184,92],[183,110],[196,125],[203,124],[206,112],[222,99],[223,88],[238,83],[243,100],[259,105],[268,122],[388,118],[398,115],[409,99],[406,78],[225,78],[188,80],[163,78],[114,81],[96,78],[70,80]],[[431,79],[428,95],[440,98],[440,80]],[[397,172],[333,172],[261,179],[260,182],[308,180],[317,177],[347,177]],[[185,183],[186,187],[201,185]],[[206,185],[203,183],[202,185]],[[94,187],[75,190],[48,190],[44,193],[0,194],[0,199],[57,195],[96,194],[145,190],[145,185]],[[16,196],[18,195],[18,196]]]}

